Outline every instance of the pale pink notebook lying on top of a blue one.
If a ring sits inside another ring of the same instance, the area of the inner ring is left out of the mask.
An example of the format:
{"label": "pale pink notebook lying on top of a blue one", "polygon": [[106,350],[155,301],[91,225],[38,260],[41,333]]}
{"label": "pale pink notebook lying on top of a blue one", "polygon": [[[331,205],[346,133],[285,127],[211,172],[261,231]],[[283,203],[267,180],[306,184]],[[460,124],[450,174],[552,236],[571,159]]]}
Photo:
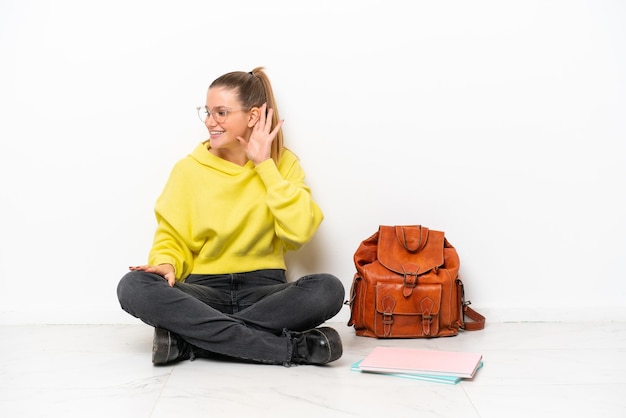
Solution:
{"label": "pale pink notebook lying on top of a blue one", "polygon": [[472,378],[482,358],[482,354],[478,353],[376,347],[361,361],[359,368],[377,373],[412,373]]}

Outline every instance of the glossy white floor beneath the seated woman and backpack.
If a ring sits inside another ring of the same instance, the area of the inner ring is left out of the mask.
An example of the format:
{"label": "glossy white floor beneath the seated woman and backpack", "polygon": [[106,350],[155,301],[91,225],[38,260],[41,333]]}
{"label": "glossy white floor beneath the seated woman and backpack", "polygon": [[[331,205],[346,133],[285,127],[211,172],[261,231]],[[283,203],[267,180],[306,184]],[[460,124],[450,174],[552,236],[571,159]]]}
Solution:
{"label": "glossy white floor beneath the seated woman and backpack", "polygon": [[[2,326],[0,417],[626,417],[626,323],[488,323],[433,340],[356,337],[330,365],[151,364],[145,325]],[[457,385],[363,374],[376,345],[478,351]]]}

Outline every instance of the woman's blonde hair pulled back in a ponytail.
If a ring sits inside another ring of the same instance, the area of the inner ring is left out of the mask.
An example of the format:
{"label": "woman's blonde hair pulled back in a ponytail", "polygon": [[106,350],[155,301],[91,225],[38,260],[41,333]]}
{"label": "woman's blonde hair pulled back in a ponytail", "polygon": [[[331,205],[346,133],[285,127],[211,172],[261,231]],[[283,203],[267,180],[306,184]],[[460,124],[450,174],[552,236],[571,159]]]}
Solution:
{"label": "woman's blonde hair pulled back in a ponytail", "polygon": [[[267,108],[274,110],[270,129],[274,129],[280,121],[274,91],[263,67],[256,67],[250,72],[233,71],[224,74],[216,78],[209,86],[209,89],[213,87],[223,87],[236,91],[239,102],[246,110],[250,110],[253,107],[261,107],[263,103],[267,103]],[[283,149],[283,130],[281,128],[272,142],[271,156],[276,164],[278,164]]]}

